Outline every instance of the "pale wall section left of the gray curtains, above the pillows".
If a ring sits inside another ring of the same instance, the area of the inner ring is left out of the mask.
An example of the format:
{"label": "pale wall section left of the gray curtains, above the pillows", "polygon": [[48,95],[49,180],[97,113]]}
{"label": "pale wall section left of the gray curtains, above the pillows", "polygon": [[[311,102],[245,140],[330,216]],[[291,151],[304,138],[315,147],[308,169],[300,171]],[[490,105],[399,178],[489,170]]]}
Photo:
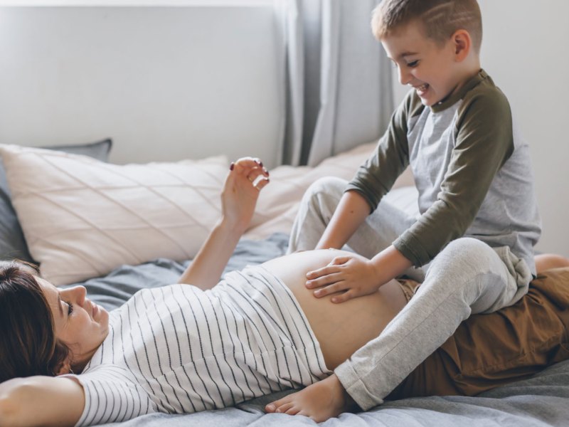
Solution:
{"label": "pale wall section left of the gray curtains, above the pillows", "polygon": [[112,137],[111,161],[275,164],[272,6],[0,8],[0,142]]}

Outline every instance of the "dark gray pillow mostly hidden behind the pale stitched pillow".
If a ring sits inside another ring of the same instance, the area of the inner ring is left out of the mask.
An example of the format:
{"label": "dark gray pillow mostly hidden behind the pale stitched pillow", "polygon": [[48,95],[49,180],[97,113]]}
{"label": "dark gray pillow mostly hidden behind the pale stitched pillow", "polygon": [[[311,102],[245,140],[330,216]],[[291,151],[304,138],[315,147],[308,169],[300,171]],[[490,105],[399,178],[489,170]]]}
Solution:
{"label": "dark gray pillow mostly hidden behind the pale stitched pillow", "polygon": [[[56,149],[72,154],[83,154],[101,162],[107,162],[111,147],[112,140],[104,139],[91,144],[57,145],[43,148]],[[18,223],[18,217],[11,203],[6,172],[4,172],[4,166],[0,162],[0,260],[11,260],[14,258],[33,263],[26,241],[23,238],[20,223]]]}

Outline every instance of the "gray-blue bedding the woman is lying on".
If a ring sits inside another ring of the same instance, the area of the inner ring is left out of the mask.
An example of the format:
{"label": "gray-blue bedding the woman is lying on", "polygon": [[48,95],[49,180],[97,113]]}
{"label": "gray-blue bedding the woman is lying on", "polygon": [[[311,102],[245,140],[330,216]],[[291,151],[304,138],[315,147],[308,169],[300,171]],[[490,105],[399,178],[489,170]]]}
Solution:
{"label": "gray-blue bedding the woman is lying on", "polygon": [[[287,236],[275,234],[265,241],[240,241],[226,271],[262,263],[285,253]],[[189,262],[189,261],[188,261]],[[107,310],[118,307],[142,288],[176,283],[186,263],[159,259],[142,265],[122,266],[105,278],[82,283],[90,298]],[[186,415],[152,414],[122,426],[304,426],[315,425],[302,416],[265,414],[263,406],[283,396],[239,404],[235,408]],[[114,426],[117,423],[107,424]],[[569,361],[555,364],[533,376],[487,391],[476,397],[444,396],[404,399],[363,413],[344,413],[321,426],[569,426]]]}

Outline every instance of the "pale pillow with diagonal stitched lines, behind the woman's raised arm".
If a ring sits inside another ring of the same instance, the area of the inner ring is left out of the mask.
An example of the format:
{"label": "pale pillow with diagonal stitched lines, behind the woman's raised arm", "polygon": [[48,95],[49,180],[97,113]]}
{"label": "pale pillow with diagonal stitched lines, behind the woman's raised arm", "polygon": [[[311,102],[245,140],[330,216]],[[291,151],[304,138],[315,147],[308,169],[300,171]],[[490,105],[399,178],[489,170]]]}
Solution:
{"label": "pale pillow with diagonal stitched lines, behind the woman's raised arm", "polygon": [[15,145],[0,154],[30,253],[54,285],[192,258],[220,216],[228,172],[225,157],[117,165]]}

